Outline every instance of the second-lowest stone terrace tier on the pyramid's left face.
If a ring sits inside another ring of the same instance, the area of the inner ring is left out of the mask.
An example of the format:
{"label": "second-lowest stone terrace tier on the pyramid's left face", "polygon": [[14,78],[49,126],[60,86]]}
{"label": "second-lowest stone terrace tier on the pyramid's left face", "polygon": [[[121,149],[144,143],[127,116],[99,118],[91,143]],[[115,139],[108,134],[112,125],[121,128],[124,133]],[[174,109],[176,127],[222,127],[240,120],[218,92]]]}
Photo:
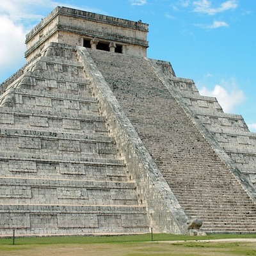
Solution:
{"label": "second-lowest stone terrace tier on the pyramid's left face", "polygon": [[134,182],[0,177],[1,204],[137,205]]}

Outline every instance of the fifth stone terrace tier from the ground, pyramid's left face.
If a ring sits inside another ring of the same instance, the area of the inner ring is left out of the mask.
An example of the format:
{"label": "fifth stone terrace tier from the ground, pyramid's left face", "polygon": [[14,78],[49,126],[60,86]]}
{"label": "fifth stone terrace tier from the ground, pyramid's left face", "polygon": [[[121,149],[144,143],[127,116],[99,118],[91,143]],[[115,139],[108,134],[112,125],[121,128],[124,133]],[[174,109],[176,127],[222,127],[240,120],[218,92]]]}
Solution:
{"label": "fifth stone terrace tier from the ground, pyramid's left face", "polygon": [[[1,113],[2,112],[2,113]],[[0,124],[3,129],[29,128],[32,130],[42,130],[51,132],[81,132],[81,133],[106,133],[106,120],[99,114],[79,115],[77,111],[53,111],[39,113],[34,111],[24,111],[15,109],[15,112],[3,113],[0,109]]]}

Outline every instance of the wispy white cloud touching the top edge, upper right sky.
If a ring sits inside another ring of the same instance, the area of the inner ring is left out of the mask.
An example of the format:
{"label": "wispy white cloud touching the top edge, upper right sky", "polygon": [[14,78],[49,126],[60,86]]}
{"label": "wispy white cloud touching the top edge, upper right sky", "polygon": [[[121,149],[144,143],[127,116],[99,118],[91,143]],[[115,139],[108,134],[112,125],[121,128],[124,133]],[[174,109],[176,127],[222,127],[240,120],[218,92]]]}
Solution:
{"label": "wispy white cloud touching the top edge, upper right sky", "polygon": [[223,3],[219,7],[213,8],[212,3],[209,0],[198,0],[193,1],[193,5],[195,6],[194,12],[204,13],[208,15],[215,15],[216,13],[226,12],[228,10],[234,10],[237,8],[237,0],[228,0]]}

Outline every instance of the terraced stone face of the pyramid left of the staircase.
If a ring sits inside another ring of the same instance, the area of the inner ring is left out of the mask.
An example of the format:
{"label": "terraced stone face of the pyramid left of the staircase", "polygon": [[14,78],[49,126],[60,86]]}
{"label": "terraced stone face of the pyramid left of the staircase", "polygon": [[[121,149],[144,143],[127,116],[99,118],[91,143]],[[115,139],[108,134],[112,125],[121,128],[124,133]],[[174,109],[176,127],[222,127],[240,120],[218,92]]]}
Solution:
{"label": "terraced stone face of the pyramid left of the staircase", "polygon": [[0,96],[0,235],[148,232],[74,47],[48,49]]}

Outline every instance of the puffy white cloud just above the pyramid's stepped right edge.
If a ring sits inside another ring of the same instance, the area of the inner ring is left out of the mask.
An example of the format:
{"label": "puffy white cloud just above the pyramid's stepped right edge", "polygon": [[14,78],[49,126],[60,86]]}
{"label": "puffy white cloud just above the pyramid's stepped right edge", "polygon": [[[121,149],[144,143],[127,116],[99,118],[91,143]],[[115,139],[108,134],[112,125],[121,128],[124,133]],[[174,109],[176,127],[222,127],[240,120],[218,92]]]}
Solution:
{"label": "puffy white cloud just above the pyramid's stepped right edge", "polygon": [[[226,83],[223,81],[223,83]],[[230,88],[230,91],[227,91],[220,84],[216,84],[213,90],[209,90],[206,87],[199,90],[201,95],[216,97],[220,106],[223,108],[224,112],[232,113],[235,107],[241,104],[245,100],[243,90],[239,90],[236,85],[233,85]]]}

